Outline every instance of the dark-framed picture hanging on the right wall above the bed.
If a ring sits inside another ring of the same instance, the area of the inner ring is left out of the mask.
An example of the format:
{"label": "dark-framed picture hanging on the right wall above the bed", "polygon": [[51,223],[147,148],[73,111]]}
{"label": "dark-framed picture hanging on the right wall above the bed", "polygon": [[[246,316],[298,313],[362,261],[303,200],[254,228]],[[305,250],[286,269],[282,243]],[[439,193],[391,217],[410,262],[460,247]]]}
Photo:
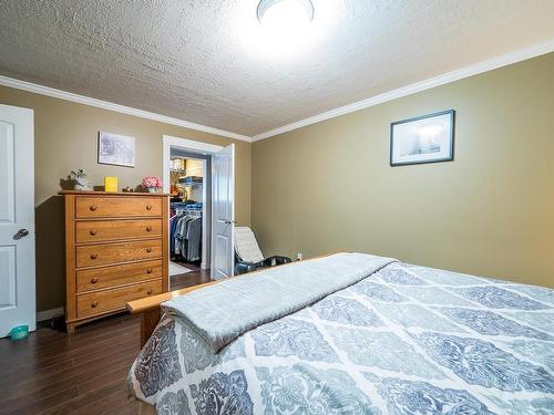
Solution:
{"label": "dark-framed picture hanging on the right wall above the bed", "polygon": [[454,110],[390,124],[390,165],[454,159]]}

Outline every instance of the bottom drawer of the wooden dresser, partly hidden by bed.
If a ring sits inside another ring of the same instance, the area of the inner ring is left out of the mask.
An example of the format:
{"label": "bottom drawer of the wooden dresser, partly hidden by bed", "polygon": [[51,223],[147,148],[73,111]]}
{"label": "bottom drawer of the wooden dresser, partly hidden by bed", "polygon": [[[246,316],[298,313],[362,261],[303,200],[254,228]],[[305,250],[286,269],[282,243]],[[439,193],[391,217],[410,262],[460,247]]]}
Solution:
{"label": "bottom drawer of the wooden dresser, partly hidden by bed", "polygon": [[162,293],[162,281],[142,282],[106,291],[79,294],[76,314],[79,319],[125,309],[125,303]]}

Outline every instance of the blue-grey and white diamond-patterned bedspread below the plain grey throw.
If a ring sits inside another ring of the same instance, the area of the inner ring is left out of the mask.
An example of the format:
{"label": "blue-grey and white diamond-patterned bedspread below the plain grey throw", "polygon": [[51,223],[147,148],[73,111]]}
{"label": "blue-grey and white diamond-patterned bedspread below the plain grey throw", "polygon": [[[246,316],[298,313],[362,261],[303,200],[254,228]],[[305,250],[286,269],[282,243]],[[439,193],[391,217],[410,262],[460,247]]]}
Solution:
{"label": "blue-grey and white diamond-patterned bedspread below the plain grey throw", "polygon": [[166,317],[129,382],[158,414],[553,414],[554,291],[394,262],[217,354]]}

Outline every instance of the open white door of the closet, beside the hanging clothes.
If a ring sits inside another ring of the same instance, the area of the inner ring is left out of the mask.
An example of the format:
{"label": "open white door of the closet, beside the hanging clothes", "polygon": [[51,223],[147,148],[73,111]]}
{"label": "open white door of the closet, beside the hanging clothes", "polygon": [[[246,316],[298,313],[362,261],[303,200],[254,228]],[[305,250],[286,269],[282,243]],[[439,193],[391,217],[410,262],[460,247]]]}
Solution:
{"label": "open white door of the closet, beside the hanging clothes", "polygon": [[235,145],[212,157],[212,278],[235,269]]}

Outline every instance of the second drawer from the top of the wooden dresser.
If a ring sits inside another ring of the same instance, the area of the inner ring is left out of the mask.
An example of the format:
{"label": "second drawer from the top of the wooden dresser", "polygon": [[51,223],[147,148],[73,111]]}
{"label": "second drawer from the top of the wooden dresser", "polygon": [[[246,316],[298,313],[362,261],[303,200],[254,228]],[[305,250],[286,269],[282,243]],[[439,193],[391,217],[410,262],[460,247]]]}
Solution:
{"label": "second drawer from the top of the wooden dresser", "polygon": [[162,219],[90,220],[75,222],[76,243],[161,236]]}

